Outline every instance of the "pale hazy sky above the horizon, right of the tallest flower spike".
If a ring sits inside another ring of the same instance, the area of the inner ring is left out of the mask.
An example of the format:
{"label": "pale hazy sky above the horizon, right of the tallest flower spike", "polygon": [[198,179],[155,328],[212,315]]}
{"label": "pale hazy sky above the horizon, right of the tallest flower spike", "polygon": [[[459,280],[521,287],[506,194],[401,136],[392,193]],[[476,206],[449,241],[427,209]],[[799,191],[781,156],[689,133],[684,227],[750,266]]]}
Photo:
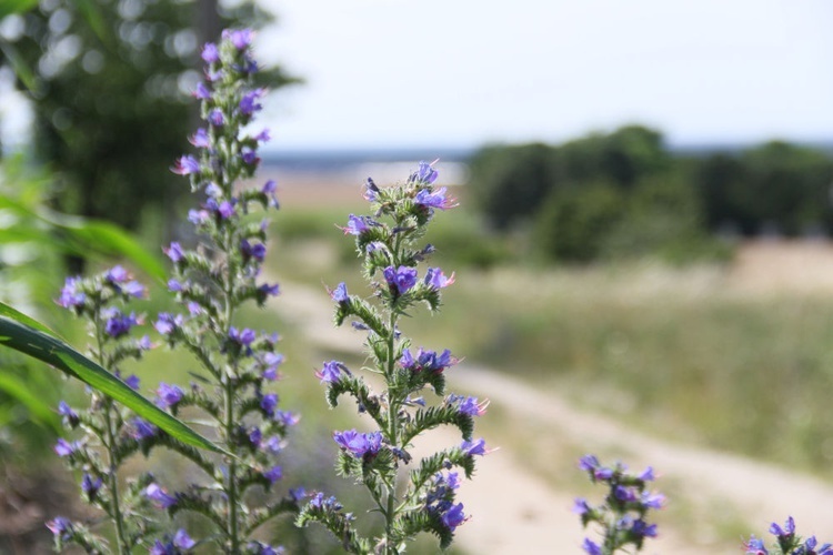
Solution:
{"label": "pale hazy sky above the horizon, right of the tallest flower spike", "polygon": [[262,0],[272,148],[833,139],[830,0]]}

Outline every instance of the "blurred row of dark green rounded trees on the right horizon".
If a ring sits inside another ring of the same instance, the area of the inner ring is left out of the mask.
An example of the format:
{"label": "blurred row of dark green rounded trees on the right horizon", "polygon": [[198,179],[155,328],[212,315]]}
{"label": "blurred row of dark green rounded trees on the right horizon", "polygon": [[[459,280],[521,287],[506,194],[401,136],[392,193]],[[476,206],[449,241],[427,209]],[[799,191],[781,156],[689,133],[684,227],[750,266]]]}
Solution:
{"label": "blurred row of dark green rounded trees on the right horizon", "polygon": [[720,236],[833,233],[833,159],[782,141],[674,151],[628,125],[562,144],[489,145],[471,194],[499,232],[530,230],[551,259],[713,255]]}

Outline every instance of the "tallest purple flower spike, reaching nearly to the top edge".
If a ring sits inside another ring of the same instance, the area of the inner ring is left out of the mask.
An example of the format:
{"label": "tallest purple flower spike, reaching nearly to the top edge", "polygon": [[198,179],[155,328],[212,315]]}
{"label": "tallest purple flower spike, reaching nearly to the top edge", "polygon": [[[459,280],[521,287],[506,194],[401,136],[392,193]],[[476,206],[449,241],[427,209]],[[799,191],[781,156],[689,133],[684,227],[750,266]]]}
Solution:
{"label": "tallest purple flower spike, reaching nearly to the top edge", "polygon": [[171,515],[193,511],[218,524],[220,534],[212,539],[225,553],[275,552],[277,547],[250,535],[268,518],[297,511],[298,502],[271,500],[252,506],[259,497],[247,495],[253,486],[269,491],[282,478],[277,457],[288,428],[298,422],[297,415],[278,408],[278,395],[268,391],[283,363],[277,352],[278,334],[237,322],[245,302],[263,306],[279,293],[277,284],[261,278],[268,221],[253,219],[258,205],[264,211],[278,208],[275,183],[268,181],[257,189],[239,185],[254,176],[258,148],[269,140],[268,130],[244,131],[265,92],[252,84],[258,64],[251,57],[251,40],[249,30],[224,31],[220,43],[202,49],[207,79],[195,97],[205,124],[191,137],[198,154],[180,158],[172,168],[189,178],[192,191],[204,194],[205,201],[188,214],[201,241],[195,249],[179,242],[163,249],[173,264],[168,289],[184,311],[159,314],[154,323],[168,345],[190,351],[202,369],[200,383],[188,389],[160,383],[157,404],[174,415],[201,410],[234,458],[214,461],[180,448],[203,471],[207,483],[168,493],[154,482],[144,491],[148,500]]}

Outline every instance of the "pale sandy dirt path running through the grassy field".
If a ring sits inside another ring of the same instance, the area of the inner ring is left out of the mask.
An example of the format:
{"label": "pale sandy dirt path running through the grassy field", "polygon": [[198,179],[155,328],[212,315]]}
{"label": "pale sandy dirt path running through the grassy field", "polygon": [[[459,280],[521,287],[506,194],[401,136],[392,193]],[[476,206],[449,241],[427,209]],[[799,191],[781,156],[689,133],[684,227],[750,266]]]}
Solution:
{"label": "pale sandy dirt path running through the grassy field", "polygon": [[[281,312],[313,342],[329,350],[352,352],[360,337],[330,324],[332,306],[325,292],[283,283]],[[745,515],[749,533],[764,534],[772,521],[795,517],[800,532],[830,539],[833,535],[833,486],[747,458],[692,448],[633,432],[621,423],[579,411],[552,391],[512,380],[505,374],[460,364],[450,372],[454,391],[489,397],[492,407],[531,418],[548,430],[548,442],[569,441],[586,452],[622,452],[633,467],[653,465],[663,483],[673,482],[679,502],[699,506],[733,506]],[[488,417],[488,416],[486,416]],[[428,448],[460,441],[452,433],[432,433]],[[534,448],[534,447],[532,447]],[[635,454],[635,455],[633,455]],[[579,474],[576,474],[576,477]],[[508,450],[478,464],[475,480],[461,488],[473,517],[458,531],[458,546],[471,553],[572,554],[583,531],[571,513],[573,492],[553,487],[525,471]],[[729,553],[742,553],[737,549]],[[695,555],[717,553],[707,533],[663,526],[661,537],[644,553]]]}

